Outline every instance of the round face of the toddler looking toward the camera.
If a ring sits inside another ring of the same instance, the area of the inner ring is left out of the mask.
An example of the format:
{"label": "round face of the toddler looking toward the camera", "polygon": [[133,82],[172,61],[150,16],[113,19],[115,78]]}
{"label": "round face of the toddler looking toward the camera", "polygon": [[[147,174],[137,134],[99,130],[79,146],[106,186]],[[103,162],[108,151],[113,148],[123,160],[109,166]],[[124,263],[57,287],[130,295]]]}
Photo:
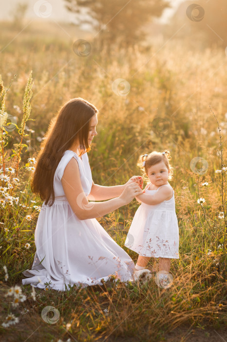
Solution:
{"label": "round face of the toddler looking toward the camera", "polygon": [[169,174],[170,171],[167,169],[164,162],[152,165],[148,169],[148,178],[150,179],[150,182],[157,186],[166,184]]}

